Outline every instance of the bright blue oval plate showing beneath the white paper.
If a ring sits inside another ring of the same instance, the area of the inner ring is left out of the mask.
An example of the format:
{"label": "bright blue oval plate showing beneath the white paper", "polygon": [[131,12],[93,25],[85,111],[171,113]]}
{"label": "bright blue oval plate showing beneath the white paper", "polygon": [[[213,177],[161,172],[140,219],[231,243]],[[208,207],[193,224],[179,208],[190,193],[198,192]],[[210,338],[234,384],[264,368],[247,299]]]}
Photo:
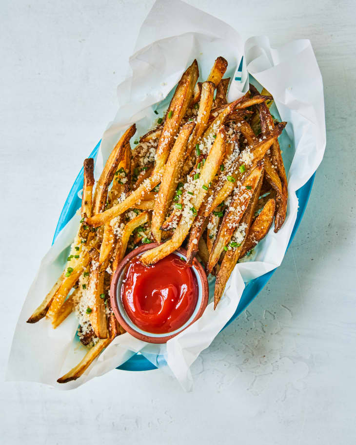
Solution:
{"label": "bright blue oval plate showing beneath the white paper", "polygon": [[[89,155],[89,157],[94,157],[96,159],[100,142],[95,147],[95,149],[92,151],[92,153]],[[293,228],[293,232],[291,234],[291,238],[288,243],[288,247],[290,246],[294,235],[296,234],[300,221],[303,217],[303,214],[305,212],[305,209],[307,207],[307,203],[309,200],[310,192],[313,187],[315,174],[309,179],[308,182],[306,182],[303,187],[301,187],[299,190],[297,190],[297,198],[299,201],[299,207],[298,207],[298,213],[297,213],[297,219],[296,223]],[[74,214],[77,212],[81,205],[81,200],[78,197],[78,192],[83,188],[83,168],[81,168],[76,180],[74,181],[74,184],[68,194],[68,197],[64,203],[62,212],[60,213],[58,224],[56,227],[56,232],[53,237],[53,242],[55,242],[55,239],[57,238],[59,232],[63,229],[63,227],[67,224],[67,222],[74,216]],[[288,249],[287,247],[287,249]],[[267,272],[264,275],[259,276],[258,278],[255,278],[254,280],[250,281],[242,295],[240,302],[238,303],[237,310],[234,313],[234,315],[230,318],[230,320],[226,323],[223,329],[226,328],[232,321],[235,320],[235,318],[247,308],[247,306],[251,303],[251,301],[257,296],[260,290],[264,287],[264,285],[267,283],[267,281],[271,278],[272,274],[274,273],[276,269],[273,271]],[[147,360],[143,355],[134,355],[132,356],[127,362],[123,363],[121,366],[119,366],[117,369],[123,369],[125,371],[148,371],[151,369],[157,369],[155,365],[153,365],[149,360]]]}

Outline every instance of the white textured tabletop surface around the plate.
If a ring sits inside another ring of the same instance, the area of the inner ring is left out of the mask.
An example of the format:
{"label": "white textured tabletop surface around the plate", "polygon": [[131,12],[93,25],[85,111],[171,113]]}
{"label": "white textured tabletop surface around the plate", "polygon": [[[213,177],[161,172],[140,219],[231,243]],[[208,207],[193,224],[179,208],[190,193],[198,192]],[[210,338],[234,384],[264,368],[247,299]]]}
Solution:
{"label": "white textured tabletop surface around the plate", "polygon": [[[327,150],[300,229],[270,283],[198,358],[193,393],[159,371],[113,370],[71,392],[1,382],[1,443],[355,443],[354,2],[252,0],[238,13],[233,0],[189,3],[245,38],[312,41]],[[82,159],[114,116],[118,73],[152,4],[2,2],[1,370]]]}

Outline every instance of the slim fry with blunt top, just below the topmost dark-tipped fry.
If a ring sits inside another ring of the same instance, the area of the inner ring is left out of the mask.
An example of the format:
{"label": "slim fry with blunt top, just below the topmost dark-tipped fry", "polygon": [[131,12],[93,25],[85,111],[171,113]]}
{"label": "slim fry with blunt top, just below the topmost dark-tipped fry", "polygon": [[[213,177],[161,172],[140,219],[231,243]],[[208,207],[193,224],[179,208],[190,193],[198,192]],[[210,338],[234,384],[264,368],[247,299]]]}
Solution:
{"label": "slim fry with blunt top, just below the topmost dark-tipped fry", "polygon": [[196,148],[196,143],[198,142],[199,137],[206,130],[210,111],[213,106],[214,90],[215,90],[215,85],[213,82],[204,82],[201,86],[201,97],[197,115],[197,124],[188,142],[186,157],[188,157],[191,154],[191,152]]}

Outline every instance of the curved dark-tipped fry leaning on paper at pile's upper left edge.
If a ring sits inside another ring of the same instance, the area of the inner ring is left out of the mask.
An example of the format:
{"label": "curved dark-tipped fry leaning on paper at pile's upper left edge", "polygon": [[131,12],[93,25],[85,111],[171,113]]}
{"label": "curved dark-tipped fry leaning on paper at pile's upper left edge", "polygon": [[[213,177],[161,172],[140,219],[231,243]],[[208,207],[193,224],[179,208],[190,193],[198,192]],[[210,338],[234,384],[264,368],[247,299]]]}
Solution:
{"label": "curved dark-tipped fry leaning on paper at pile's upper left edge", "polygon": [[105,163],[105,167],[100,174],[99,181],[95,188],[93,198],[93,214],[102,212],[107,198],[108,187],[114,178],[114,174],[117,171],[120,160],[122,159],[126,144],[131,137],[136,133],[136,125],[132,125],[125,133],[120,137],[119,142],[116,144],[114,150],[110,153],[108,160]]}

